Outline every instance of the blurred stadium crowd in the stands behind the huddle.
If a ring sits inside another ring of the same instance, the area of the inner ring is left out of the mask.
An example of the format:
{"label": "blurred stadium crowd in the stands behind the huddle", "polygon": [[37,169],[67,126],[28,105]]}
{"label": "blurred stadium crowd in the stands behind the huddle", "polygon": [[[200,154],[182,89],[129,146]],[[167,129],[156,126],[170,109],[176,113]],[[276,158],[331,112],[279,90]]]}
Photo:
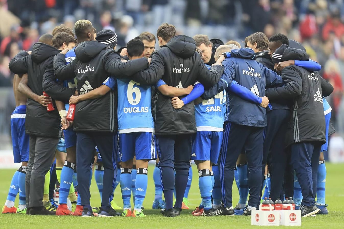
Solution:
{"label": "blurred stadium crowd in the stands behind the huddle", "polygon": [[[286,34],[321,64],[321,75],[334,87],[332,122],[344,133],[343,0],[0,0],[0,87],[12,87],[8,64],[19,50],[31,50],[55,25],[73,28],[79,19],[92,21],[97,31],[116,31],[118,48],[143,31],[155,33],[162,22],[174,24],[177,34],[206,34],[241,44],[257,31],[267,37]],[[2,96],[0,110],[11,114],[15,104],[11,91],[8,95]],[[5,113],[0,111],[1,133],[9,123]]]}

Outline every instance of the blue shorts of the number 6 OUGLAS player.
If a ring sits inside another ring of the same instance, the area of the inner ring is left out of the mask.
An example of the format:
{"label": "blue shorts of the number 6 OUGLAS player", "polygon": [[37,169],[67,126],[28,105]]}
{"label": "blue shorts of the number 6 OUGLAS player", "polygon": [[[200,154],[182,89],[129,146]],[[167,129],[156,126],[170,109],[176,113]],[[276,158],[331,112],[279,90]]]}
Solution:
{"label": "blue shorts of the number 6 OUGLAS player", "polygon": [[154,133],[133,132],[119,134],[119,155],[122,161],[155,160],[157,158],[154,144]]}

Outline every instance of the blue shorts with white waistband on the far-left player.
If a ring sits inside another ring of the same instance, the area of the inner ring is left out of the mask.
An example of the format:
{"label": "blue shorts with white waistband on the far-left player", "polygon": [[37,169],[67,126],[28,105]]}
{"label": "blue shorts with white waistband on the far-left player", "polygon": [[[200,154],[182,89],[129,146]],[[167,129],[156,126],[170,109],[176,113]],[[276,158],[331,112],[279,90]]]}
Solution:
{"label": "blue shorts with white waistband on the far-left player", "polygon": [[29,161],[29,135],[25,134],[26,105],[15,108],[11,115],[11,135],[14,163]]}

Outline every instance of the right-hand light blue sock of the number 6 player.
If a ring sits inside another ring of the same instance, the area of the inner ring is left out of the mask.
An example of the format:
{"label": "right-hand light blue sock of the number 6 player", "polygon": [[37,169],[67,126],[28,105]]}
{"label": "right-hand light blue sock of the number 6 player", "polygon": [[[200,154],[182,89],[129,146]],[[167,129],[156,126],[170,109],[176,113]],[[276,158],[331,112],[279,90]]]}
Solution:
{"label": "right-hand light blue sock of the number 6 player", "polygon": [[137,169],[136,175],[136,195],[135,195],[135,204],[134,209],[141,211],[142,203],[144,197],[146,196],[147,191],[147,183],[148,183],[148,176],[147,176],[147,169],[139,168]]}

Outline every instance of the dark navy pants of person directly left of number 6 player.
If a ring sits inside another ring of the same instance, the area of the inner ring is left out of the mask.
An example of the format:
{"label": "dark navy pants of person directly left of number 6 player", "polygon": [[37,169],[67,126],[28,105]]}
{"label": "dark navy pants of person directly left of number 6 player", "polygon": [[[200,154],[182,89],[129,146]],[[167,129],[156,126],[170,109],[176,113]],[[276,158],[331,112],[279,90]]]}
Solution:
{"label": "dark navy pants of person directly left of number 6 player", "polygon": [[111,206],[119,157],[117,132],[77,132],[76,139],[76,172],[81,205],[90,205],[90,165],[92,168],[95,147],[97,146],[104,165],[101,205]]}

